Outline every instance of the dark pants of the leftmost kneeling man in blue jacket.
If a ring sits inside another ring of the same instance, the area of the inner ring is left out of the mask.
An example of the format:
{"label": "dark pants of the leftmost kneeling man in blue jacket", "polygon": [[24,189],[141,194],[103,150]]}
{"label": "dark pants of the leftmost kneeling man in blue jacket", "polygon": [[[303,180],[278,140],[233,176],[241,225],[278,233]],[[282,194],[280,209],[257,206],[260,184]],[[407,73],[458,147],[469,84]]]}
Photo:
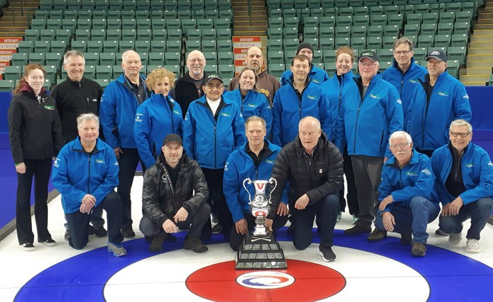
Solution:
{"label": "dark pants of the leftmost kneeling man in blue jacket", "polygon": [[[120,244],[123,240],[122,232],[120,232],[122,228],[122,200],[120,200],[120,196],[115,191],[111,191],[95,209],[104,209],[106,211],[106,218],[108,218],[108,241],[112,244]],[[65,216],[67,217],[70,232],[68,244],[72,248],[80,250],[88,244],[88,228],[91,216],[90,214],[79,211],[67,213]]]}

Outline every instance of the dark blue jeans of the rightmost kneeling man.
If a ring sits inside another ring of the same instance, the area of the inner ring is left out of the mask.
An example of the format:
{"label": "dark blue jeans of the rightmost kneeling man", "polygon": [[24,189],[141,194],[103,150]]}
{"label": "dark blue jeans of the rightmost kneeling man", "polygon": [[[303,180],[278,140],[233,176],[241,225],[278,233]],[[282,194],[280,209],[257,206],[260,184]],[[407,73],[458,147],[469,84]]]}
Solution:
{"label": "dark blue jeans of the rightmost kneeling man", "polygon": [[462,205],[455,216],[440,216],[439,227],[446,233],[462,232],[462,223],[471,218],[471,228],[467,231],[467,239],[480,239],[480,232],[485,228],[492,212],[492,200],[489,197]]}

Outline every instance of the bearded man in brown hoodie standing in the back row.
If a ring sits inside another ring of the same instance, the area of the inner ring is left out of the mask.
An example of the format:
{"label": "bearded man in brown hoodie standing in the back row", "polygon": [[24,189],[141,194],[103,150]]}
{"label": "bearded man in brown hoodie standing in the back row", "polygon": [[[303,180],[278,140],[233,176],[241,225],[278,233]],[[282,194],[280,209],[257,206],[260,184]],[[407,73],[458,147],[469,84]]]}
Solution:
{"label": "bearded man in brown hoodie standing in the back row", "polygon": [[[278,79],[276,79],[273,75],[268,74],[267,69],[262,70],[264,66],[264,56],[262,55],[262,49],[257,46],[252,46],[247,49],[246,57],[245,57],[245,65],[255,70],[257,73],[257,77],[259,80],[257,81],[257,88],[259,89],[259,93],[263,93],[267,100],[272,106],[274,102],[274,95],[281,87],[281,84]],[[227,88],[228,91],[232,91],[238,89],[240,86],[238,77],[234,77],[230,82]]]}

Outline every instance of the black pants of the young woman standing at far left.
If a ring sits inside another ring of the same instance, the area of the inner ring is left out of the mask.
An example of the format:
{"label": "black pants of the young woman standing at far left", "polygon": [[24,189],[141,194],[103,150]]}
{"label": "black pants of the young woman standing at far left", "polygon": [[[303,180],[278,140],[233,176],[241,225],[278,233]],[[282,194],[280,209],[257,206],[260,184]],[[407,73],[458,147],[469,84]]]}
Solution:
{"label": "black pants of the young woman standing at far left", "polygon": [[34,242],[31,223],[31,186],[34,177],[34,218],[38,241],[51,239],[48,232],[48,182],[51,159],[25,159],[26,173],[17,173],[17,200],[15,203],[15,226],[19,244]]}

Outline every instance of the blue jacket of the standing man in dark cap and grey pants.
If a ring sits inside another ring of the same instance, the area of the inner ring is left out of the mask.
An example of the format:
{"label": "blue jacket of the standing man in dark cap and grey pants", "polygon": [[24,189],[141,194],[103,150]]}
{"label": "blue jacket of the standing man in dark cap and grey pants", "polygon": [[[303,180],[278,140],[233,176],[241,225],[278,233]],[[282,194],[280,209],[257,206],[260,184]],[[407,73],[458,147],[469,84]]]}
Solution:
{"label": "blue jacket of the standing man in dark cap and grey pants", "polygon": [[[355,79],[356,80],[356,79]],[[361,99],[357,85],[351,86],[337,117],[334,144],[349,155],[391,157],[390,135],[403,129],[401,98],[394,86],[376,74]]]}

